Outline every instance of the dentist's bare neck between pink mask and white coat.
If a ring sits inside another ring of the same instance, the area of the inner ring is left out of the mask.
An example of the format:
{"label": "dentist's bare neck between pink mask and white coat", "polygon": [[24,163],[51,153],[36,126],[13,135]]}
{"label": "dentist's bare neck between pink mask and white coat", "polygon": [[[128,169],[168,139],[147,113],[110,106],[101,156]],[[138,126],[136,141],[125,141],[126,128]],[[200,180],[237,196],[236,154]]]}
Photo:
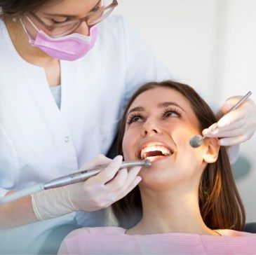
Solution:
{"label": "dentist's bare neck between pink mask and white coat", "polygon": [[25,61],[39,67],[49,67],[51,64],[58,62],[58,60],[55,60],[53,57],[43,53],[39,48],[33,47],[29,44],[27,34],[25,33],[19,19],[14,22],[12,18],[5,18],[4,22],[13,42],[13,46],[20,57]]}

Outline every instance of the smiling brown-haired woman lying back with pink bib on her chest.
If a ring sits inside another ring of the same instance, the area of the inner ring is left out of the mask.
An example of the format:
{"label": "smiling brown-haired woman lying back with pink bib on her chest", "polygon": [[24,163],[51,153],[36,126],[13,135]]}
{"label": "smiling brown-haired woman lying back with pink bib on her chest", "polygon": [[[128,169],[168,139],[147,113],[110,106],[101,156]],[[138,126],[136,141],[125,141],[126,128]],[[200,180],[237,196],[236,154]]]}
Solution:
{"label": "smiling brown-haired woman lying back with pink bib on her chest", "polygon": [[216,122],[188,85],[147,83],[130,99],[119,130],[124,160],[148,158],[139,186],[112,205],[119,227],[81,228],[60,254],[255,254],[241,232],[245,212],[229,158],[216,138],[189,145]]}

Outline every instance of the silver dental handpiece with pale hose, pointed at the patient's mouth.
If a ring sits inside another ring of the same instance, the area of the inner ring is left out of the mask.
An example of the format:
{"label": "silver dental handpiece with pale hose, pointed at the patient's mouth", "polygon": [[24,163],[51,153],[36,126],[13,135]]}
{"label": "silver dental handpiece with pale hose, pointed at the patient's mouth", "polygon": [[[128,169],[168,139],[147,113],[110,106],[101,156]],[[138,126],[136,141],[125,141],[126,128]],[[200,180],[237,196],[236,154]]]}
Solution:
{"label": "silver dental handpiece with pale hose, pointed at the patient's mouth", "polygon": [[[121,163],[120,169],[126,168],[126,167],[151,167],[151,161],[150,160],[128,160],[123,161]],[[95,174],[98,174],[102,170],[104,170],[107,167],[107,165],[102,165],[100,167],[95,167],[89,170],[83,170],[81,172],[74,172],[72,174],[68,174],[64,177],[60,177],[57,179],[53,179],[51,181],[46,181],[43,184],[36,184],[29,188],[24,188],[20,191],[17,191],[15,193],[12,193],[11,195],[6,195],[2,200],[0,200],[0,204],[6,204],[7,202],[12,202],[14,200],[17,200],[19,198],[23,198],[26,195],[31,195],[33,193],[47,190],[49,188],[58,188],[61,186],[66,186],[69,184],[76,184],[80,181],[85,181],[86,179],[93,177]]]}

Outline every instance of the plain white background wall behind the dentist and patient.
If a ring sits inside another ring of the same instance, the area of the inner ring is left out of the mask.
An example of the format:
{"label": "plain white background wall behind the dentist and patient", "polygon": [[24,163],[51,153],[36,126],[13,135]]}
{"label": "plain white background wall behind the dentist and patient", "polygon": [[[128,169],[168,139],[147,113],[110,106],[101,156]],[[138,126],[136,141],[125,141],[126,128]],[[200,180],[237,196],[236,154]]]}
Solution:
{"label": "plain white background wall behind the dentist and patient", "polygon": [[[144,36],[176,79],[208,102],[252,90],[256,102],[255,0],[119,0],[114,11]],[[256,221],[256,135],[242,144],[252,171],[238,179],[247,221]]]}

